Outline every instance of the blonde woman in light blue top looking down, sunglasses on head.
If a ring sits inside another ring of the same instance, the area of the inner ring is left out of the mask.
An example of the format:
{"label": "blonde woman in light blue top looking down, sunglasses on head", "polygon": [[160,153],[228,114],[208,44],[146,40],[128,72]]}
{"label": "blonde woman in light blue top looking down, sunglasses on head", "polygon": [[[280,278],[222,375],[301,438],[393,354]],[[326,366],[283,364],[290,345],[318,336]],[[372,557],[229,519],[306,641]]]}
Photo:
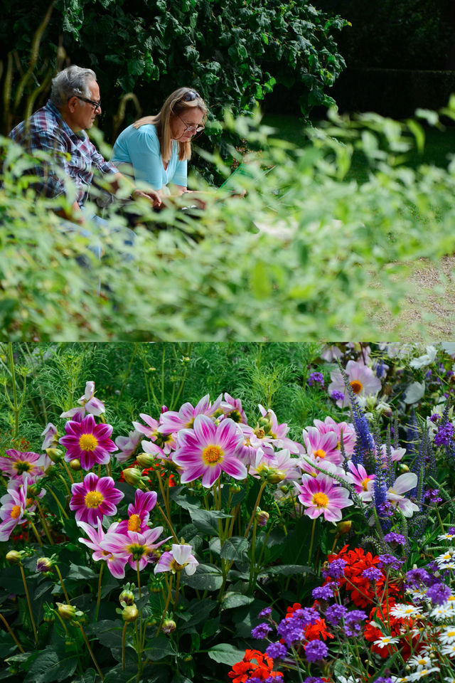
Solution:
{"label": "blonde woman in light blue top looking down, sunglasses on head", "polygon": [[[207,107],[199,93],[192,88],[178,88],[158,114],[139,119],[119,134],[111,160],[120,168],[130,164],[134,178],[158,191],[160,198],[187,193],[191,140],[203,131],[206,118]],[[172,191],[168,184],[173,185]],[[188,192],[191,201],[204,206],[198,195]]]}

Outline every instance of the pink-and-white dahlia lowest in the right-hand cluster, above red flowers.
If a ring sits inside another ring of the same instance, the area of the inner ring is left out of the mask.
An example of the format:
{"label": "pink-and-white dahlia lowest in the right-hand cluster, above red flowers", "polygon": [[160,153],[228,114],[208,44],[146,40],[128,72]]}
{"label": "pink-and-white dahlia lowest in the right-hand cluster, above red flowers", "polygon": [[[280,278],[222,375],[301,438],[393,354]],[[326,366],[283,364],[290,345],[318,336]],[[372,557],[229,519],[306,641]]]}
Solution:
{"label": "pink-and-white dahlia lowest in the right-hand cluster, above red flowers", "polygon": [[304,477],[301,485],[295,486],[299,491],[299,501],[306,507],[305,514],[311,519],[323,514],[327,521],[340,521],[343,507],[353,505],[348,490],[333,485],[333,479],[326,475]]}

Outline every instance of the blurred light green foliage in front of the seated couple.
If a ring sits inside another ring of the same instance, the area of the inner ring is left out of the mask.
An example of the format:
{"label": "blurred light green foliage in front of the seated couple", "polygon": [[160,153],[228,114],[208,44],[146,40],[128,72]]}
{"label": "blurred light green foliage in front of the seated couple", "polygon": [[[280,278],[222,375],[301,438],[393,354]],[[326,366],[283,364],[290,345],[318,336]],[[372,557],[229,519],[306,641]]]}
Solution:
{"label": "blurred light green foliage in front of the seated couple", "polygon": [[[454,112],[451,102],[444,114]],[[431,315],[410,265],[454,251],[452,166],[405,166],[422,127],[333,115],[325,130],[307,129],[299,149],[250,119],[225,127],[262,148],[249,175],[238,176],[247,196],[213,194],[197,220],[167,208],[158,224],[138,203],[134,261],[124,260],[115,233],[99,262],[86,238],[62,231],[55,201],[33,194],[29,160],[4,139],[4,338],[317,341],[346,327],[375,334],[384,319],[390,334],[419,329],[399,315],[406,296],[422,302],[424,319]],[[349,175],[353,154],[368,165],[362,185]],[[228,173],[218,155],[208,158]],[[110,226],[125,224],[115,206],[106,211]],[[79,265],[82,256],[90,268]],[[273,370],[268,381],[266,396],[279,383]]]}

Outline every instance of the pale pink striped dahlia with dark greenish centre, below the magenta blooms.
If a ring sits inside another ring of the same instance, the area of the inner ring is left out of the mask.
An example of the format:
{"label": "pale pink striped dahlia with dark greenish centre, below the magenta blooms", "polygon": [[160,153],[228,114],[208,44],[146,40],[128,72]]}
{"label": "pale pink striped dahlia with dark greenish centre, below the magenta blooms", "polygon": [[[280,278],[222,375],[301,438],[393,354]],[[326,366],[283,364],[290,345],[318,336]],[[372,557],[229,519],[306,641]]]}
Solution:
{"label": "pale pink striped dahlia with dark greenish centre, below the magenta blooms", "polygon": [[127,563],[133,569],[139,566],[139,571],[141,571],[149,562],[156,562],[158,554],[155,553],[155,550],[171,538],[168,536],[167,539],[155,543],[156,539],[163,533],[162,526],[156,526],[155,529],[145,529],[141,534],[137,531],[121,533],[118,531],[118,526],[114,530],[112,527],[105,534],[105,538],[100,541],[100,548],[112,556],[107,562],[107,566],[115,578],[124,578]]}

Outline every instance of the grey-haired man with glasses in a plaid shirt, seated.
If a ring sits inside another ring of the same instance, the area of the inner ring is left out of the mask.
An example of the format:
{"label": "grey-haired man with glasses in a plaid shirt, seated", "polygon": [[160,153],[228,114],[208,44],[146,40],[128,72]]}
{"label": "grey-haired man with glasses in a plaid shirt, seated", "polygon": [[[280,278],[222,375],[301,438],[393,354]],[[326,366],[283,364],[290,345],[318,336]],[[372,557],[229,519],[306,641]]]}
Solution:
{"label": "grey-haired man with glasses in a plaid shirt, seated", "polygon": [[[73,65],[53,78],[47,104],[28,120],[18,124],[9,134],[9,137],[32,154],[38,149],[50,152],[65,175],[73,180],[76,198],[72,211],[68,213],[62,209],[60,213],[75,223],[85,222],[84,213],[87,218],[97,219],[97,216],[90,216],[85,212],[94,173],[110,175],[108,180],[112,193],[117,191],[122,178],[131,184],[114,164],[103,159],[85,132],[92,127],[100,112],[100,88],[95,72]],[[65,193],[61,175],[55,173],[48,164],[37,165],[33,173],[39,178],[38,188],[46,196],[57,197]],[[149,198],[154,207],[161,204],[157,192],[141,191],[134,189],[132,185],[132,198],[139,196]],[[97,223],[99,222],[100,219],[97,219]]]}

